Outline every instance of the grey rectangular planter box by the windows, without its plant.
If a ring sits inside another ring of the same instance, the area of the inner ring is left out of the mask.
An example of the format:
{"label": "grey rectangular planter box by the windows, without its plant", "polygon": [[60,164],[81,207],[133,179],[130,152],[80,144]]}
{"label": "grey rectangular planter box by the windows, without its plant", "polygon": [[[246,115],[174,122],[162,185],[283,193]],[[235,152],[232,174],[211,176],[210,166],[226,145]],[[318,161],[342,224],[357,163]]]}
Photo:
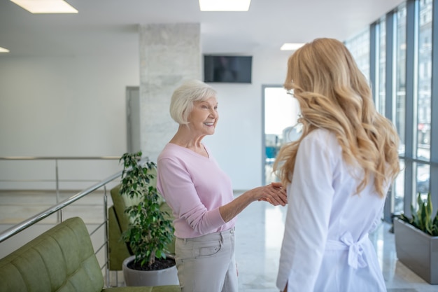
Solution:
{"label": "grey rectangular planter box by the windows, without its plant", "polygon": [[394,218],[397,258],[429,284],[438,284],[438,236]]}

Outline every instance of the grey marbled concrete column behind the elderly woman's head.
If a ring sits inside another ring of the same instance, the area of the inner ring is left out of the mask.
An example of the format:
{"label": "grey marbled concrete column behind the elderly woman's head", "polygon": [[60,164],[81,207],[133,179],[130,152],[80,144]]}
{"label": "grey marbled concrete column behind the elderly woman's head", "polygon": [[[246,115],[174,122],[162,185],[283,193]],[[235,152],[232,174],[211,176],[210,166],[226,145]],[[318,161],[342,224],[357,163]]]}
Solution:
{"label": "grey marbled concrete column behind the elderly woman's head", "polygon": [[169,114],[172,92],[202,78],[200,35],[199,23],[139,27],[141,151],[154,162],[178,128]]}

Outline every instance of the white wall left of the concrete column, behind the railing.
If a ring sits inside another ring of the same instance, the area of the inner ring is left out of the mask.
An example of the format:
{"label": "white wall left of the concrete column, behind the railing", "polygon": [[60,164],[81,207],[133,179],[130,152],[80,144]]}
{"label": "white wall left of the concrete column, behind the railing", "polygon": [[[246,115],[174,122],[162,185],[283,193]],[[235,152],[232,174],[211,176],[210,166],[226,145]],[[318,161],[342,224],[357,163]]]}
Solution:
{"label": "white wall left of the concrete column, behind the railing", "polygon": [[[134,35],[134,38],[136,36]],[[125,88],[139,84],[138,49],[120,55],[0,56],[0,156],[120,156]],[[99,181],[118,161],[59,161],[59,179]],[[0,188],[53,189],[55,162],[0,160]],[[92,182],[64,182],[83,189]]]}

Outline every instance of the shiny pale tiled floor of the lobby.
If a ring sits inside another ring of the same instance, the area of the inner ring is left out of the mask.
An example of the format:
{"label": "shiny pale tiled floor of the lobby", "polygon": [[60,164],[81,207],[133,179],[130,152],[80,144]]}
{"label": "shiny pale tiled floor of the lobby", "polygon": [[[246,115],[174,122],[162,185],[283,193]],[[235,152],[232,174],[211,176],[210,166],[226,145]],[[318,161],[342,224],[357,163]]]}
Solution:
{"label": "shiny pale tiled floor of the lobby", "polygon": [[[65,199],[72,194],[71,192],[62,193],[61,197]],[[56,202],[55,195],[50,192],[0,191],[0,232],[24,218],[29,218],[47,209],[54,202]],[[108,204],[111,204],[111,199]],[[102,194],[96,193],[81,199],[75,206],[67,209],[64,216],[81,216],[89,225],[96,225],[104,218],[102,210]],[[239,214],[236,224],[239,291],[278,292],[275,281],[284,218],[284,207],[273,207],[265,202],[254,202]],[[49,219],[48,223],[41,224],[50,225],[54,220]],[[394,235],[389,230],[390,225],[382,223],[379,229],[370,236],[376,246],[388,291],[437,292],[438,285],[428,284],[397,260]],[[6,246],[6,243],[0,243],[0,258],[4,256],[1,253],[17,246],[17,244]],[[120,280],[122,279],[119,276]]]}

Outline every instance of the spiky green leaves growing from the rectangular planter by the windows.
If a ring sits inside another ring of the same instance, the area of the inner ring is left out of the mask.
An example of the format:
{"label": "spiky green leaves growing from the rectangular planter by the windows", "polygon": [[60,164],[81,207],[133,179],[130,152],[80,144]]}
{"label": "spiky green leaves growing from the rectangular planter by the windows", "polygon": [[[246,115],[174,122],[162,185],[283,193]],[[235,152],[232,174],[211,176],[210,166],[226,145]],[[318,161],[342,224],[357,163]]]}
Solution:
{"label": "spiky green leaves growing from the rectangular planter by the windows", "polygon": [[417,208],[411,204],[411,218],[404,216],[404,214],[401,214],[400,218],[428,235],[438,236],[438,211],[435,218],[432,218],[433,207],[430,193],[428,193],[427,200],[421,199],[421,193],[418,193],[417,204]]}

